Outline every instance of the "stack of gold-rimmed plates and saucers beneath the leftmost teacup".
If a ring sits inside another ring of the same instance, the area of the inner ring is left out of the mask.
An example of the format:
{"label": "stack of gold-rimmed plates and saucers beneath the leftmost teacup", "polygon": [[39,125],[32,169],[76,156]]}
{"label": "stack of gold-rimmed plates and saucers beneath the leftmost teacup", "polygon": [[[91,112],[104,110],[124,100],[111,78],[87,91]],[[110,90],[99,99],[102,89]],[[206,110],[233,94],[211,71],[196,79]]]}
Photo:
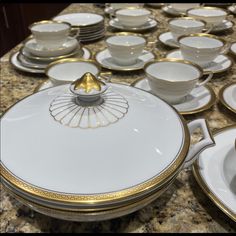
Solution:
{"label": "stack of gold-rimmed plates and saucers beneath the leftmost teacup", "polygon": [[77,39],[68,38],[60,48],[52,50],[40,47],[36,40],[30,37],[19,51],[11,55],[10,62],[21,71],[44,73],[46,67],[53,61],[67,57],[88,59],[90,56],[88,49],[82,48]]}

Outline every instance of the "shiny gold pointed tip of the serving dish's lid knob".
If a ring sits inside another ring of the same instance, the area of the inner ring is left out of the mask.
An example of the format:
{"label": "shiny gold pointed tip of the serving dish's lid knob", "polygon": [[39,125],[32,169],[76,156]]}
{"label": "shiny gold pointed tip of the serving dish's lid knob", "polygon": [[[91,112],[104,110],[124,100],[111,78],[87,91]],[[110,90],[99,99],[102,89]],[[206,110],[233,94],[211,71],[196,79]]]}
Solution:
{"label": "shiny gold pointed tip of the serving dish's lid knob", "polygon": [[98,80],[90,72],[87,72],[80,79],[74,81],[72,85],[74,85],[74,90],[83,89],[86,93],[89,93],[92,89],[101,91],[101,85],[105,85],[105,83]]}

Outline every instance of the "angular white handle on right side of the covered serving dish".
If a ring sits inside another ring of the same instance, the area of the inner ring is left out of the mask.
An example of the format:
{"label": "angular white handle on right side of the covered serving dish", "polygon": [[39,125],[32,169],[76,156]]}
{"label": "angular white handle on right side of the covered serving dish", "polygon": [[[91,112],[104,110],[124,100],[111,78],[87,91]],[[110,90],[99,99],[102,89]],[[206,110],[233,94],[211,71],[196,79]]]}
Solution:
{"label": "angular white handle on right side of the covered serving dish", "polygon": [[191,166],[192,163],[198,158],[198,155],[203,150],[215,145],[215,141],[211,135],[211,132],[208,128],[208,125],[205,119],[197,119],[197,120],[191,121],[187,124],[187,126],[189,129],[190,135],[192,135],[193,132],[197,128],[200,128],[203,133],[203,138],[199,142],[190,146],[189,152],[183,164],[183,168],[187,168]]}

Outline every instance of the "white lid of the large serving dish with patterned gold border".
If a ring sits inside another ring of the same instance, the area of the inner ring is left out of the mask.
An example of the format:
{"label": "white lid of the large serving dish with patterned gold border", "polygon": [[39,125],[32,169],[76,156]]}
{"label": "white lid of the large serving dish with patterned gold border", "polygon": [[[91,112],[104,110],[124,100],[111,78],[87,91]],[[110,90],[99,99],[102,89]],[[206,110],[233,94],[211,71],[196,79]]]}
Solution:
{"label": "white lid of the large serving dish with patterned gold border", "polygon": [[67,106],[69,86],[28,96],[2,116],[1,174],[7,181],[43,199],[91,205],[150,191],[182,166],[189,133],[167,103],[112,83],[103,106],[81,116],[109,117],[117,111],[106,109],[115,103],[121,109],[124,101],[125,116],[109,126],[71,128],[54,120],[49,110],[63,101]]}

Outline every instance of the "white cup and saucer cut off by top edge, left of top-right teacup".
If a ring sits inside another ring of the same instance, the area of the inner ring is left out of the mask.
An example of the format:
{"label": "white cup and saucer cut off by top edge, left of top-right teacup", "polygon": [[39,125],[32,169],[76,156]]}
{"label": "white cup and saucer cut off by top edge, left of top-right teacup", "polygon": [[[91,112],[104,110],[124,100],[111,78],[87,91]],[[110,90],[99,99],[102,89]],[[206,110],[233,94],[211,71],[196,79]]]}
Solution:
{"label": "white cup and saucer cut off by top edge, left of top-right teacup", "polygon": [[170,14],[172,16],[184,16],[186,15],[186,11],[193,7],[198,7],[199,3],[180,3],[180,4],[166,4],[166,6],[162,7],[162,10]]}

